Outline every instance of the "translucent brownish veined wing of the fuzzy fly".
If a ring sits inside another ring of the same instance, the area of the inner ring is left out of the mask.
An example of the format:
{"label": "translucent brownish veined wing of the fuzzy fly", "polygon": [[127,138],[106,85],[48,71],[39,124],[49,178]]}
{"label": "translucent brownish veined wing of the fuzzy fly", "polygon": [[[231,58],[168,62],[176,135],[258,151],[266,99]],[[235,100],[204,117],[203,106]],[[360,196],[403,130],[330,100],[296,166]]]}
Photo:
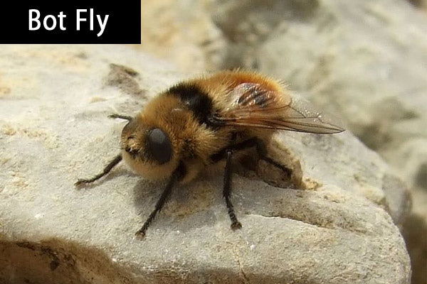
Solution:
{"label": "translucent brownish veined wing of the fuzzy fly", "polygon": [[236,86],[231,93],[230,105],[214,119],[229,126],[319,134],[344,131],[332,119],[315,111],[308,102],[265,89],[260,84],[243,83]]}

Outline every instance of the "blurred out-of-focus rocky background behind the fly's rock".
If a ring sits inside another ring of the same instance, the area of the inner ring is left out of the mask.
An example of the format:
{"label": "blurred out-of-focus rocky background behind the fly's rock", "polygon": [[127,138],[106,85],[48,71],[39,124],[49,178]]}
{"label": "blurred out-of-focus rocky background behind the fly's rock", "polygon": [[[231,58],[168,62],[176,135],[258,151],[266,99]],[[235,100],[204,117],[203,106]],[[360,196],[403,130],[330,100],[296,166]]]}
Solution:
{"label": "blurred out-of-focus rocky background behind the fly's rock", "polygon": [[244,67],[339,116],[411,188],[401,228],[427,283],[427,1],[142,1],[135,48],[195,73]]}

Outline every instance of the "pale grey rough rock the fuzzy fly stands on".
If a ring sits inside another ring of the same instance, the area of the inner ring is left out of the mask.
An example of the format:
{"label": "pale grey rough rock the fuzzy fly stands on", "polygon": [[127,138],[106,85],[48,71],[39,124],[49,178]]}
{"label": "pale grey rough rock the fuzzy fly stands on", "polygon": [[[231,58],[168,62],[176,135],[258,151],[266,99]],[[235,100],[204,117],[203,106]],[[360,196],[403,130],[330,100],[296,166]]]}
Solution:
{"label": "pale grey rough rock the fuzzy fly stands on", "polygon": [[406,190],[349,131],[275,136],[298,186],[262,163],[261,179],[234,175],[243,229],[231,231],[221,171],[209,171],[177,187],[139,241],[163,182],[125,165],[73,182],[117,154],[124,123],[107,114],[135,114],[182,76],[110,45],[7,45],[0,70],[1,283],[409,283],[389,215],[406,214]]}

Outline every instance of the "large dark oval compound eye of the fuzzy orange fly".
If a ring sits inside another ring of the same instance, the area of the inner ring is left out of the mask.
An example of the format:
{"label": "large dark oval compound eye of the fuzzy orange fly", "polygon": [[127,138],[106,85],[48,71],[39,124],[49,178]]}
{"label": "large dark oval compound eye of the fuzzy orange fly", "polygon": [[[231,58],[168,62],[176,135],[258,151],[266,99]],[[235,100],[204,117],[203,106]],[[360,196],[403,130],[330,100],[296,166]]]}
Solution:
{"label": "large dark oval compound eye of the fuzzy orange fly", "polygon": [[172,158],[172,145],[169,137],[162,129],[152,129],[148,133],[148,151],[162,165]]}

